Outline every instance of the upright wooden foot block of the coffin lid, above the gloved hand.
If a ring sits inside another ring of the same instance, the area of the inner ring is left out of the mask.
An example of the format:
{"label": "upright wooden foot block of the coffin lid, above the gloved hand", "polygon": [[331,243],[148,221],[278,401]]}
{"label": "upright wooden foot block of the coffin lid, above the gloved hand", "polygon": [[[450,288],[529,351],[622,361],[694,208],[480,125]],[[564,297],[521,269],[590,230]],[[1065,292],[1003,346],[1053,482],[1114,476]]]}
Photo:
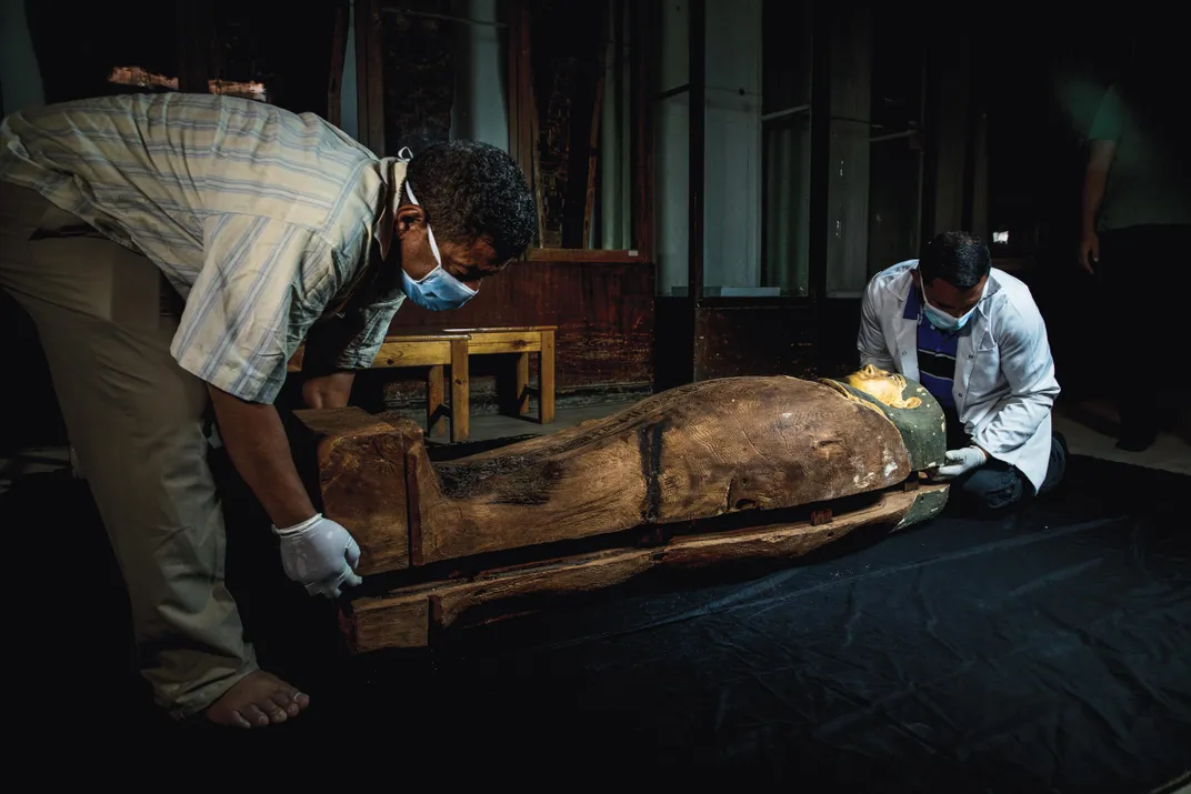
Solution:
{"label": "upright wooden foot block of the coffin lid, above the gloved hand", "polygon": [[343,525],[361,549],[358,573],[398,570],[410,564],[405,458],[417,454],[422,431],[401,427],[361,408],[294,411],[307,437],[295,451],[313,456],[318,501],[324,515]]}

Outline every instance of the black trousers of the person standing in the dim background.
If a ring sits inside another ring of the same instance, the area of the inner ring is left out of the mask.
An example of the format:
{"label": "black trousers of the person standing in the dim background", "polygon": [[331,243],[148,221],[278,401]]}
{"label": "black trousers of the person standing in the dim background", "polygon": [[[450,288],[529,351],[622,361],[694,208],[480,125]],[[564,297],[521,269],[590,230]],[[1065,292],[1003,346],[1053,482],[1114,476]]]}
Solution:
{"label": "black trousers of the person standing in the dim background", "polygon": [[[1153,439],[1172,407],[1158,387],[1183,364],[1178,326],[1191,287],[1191,226],[1130,226],[1100,235],[1098,281],[1104,377],[1122,439]],[[1173,383],[1172,383],[1173,386]]]}

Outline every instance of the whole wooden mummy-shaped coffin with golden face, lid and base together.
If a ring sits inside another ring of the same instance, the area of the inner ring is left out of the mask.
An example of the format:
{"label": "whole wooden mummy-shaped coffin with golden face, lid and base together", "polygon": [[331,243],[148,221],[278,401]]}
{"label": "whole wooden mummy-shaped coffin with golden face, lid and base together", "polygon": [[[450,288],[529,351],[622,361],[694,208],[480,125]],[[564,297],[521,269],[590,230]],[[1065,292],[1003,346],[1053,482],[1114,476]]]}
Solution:
{"label": "whole wooden mummy-shaped coffin with golden face, lid and base together", "polygon": [[395,414],[298,415],[320,509],[362,549],[366,584],[348,609],[360,650],[424,644],[432,625],[501,599],[797,556],[860,526],[929,518],[947,495],[918,476],[942,459],[942,409],[871,368],[694,383],[436,464]]}

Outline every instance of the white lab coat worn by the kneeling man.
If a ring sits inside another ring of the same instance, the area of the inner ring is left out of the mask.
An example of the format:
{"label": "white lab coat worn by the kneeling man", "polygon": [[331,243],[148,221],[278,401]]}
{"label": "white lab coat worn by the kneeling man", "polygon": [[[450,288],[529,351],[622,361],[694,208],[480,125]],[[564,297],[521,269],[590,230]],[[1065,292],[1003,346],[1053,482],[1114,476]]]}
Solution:
{"label": "white lab coat worn by the kneeling man", "polygon": [[[887,268],[868,283],[856,348],[873,364],[918,380],[917,319],[905,319],[917,260]],[[1050,461],[1050,408],[1059,395],[1046,323],[1029,288],[996,268],[959,339],[952,395],[972,440],[1042,484]]]}

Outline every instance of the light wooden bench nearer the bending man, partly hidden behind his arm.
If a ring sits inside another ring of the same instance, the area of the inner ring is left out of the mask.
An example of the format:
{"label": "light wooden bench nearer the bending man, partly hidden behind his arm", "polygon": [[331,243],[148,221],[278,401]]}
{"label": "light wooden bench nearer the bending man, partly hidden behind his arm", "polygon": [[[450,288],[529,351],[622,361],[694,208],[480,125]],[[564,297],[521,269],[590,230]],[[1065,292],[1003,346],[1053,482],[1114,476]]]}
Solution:
{"label": "light wooden bench nearer the bending man, partly hidden behind his arm", "polygon": [[[300,373],[305,345],[299,346],[287,371]],[[467,374],[468,336],[460,332],[423,331],[391,333],[376,351],[370,369],[429,367],[426,373],[426,434],[442,436],[450,418],[450,439],[467,440],[469,383]],[[444,398],[444,368],[450,367],[450,408]]]}

